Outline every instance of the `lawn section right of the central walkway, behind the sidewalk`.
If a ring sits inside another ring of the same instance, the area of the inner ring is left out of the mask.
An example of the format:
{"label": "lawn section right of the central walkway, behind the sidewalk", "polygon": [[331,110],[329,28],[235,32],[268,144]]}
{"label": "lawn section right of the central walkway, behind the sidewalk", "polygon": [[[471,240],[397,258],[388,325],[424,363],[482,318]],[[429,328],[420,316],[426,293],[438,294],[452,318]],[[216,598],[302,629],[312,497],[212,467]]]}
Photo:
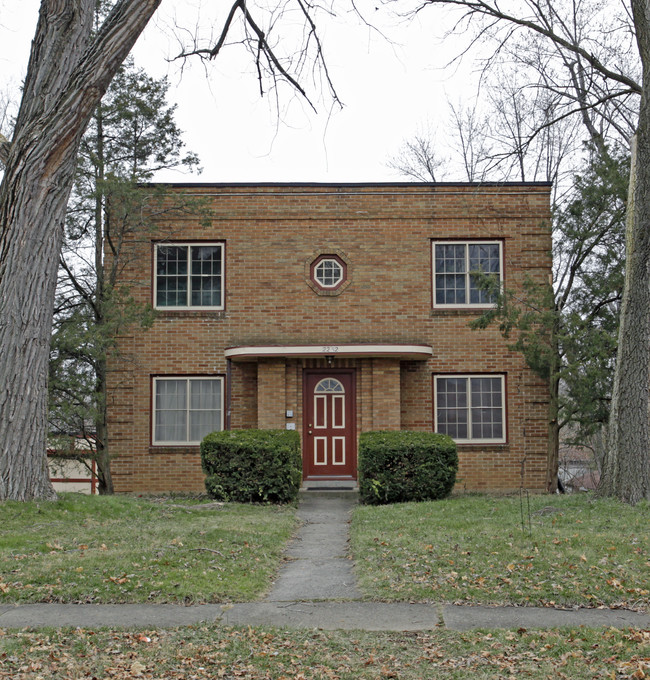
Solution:
{"label": "lawn section right of the central walkway, behind the sidewalk", "polygon": [[351,538],[360,586],[372,599],[629,608],[650,602],[647,503],[468,495],[366,506],[354,514]]}

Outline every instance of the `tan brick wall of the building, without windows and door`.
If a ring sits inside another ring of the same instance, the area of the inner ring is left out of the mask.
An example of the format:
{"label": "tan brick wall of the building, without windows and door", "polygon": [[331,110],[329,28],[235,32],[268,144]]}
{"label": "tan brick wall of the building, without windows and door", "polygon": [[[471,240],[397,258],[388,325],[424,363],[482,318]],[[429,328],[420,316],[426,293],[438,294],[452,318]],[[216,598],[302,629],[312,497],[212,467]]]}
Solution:
{"label": "tan brick wall of the building, without windows and door", "polygon": [[[548,281],[549,191],[546,184],[170,188],[164,209],[152,208],[155,227],[130,244],[124,280],[136,300],[152,303],[155,243],[222,243],[224,309],[159,309],[152,328],[118,339],[108,398],[116,490],[204,489],[197,446],[152,443],[155,379],[221,377],[224,427],[294,423],[304,440],[304,375],[326,368],[353,369],[355,438],[373,429],[431,430],[436,375],[503,376],[505,442],[459,444],[457,487],[543,490],[548,386],[498,329],[468,328],[480,311],[434,306],[432,242],[496,241],[506,286],[525,276]],[[195,216],[177,209],[187,197],[201,199]],[[311,278],[320,255],[345,264],[336,290]],[[295,350],[305,346],[313,352]],[[386,350],[404,346],[426,346],[430,355]],[[247,347],[266,350],[226,356]]]}

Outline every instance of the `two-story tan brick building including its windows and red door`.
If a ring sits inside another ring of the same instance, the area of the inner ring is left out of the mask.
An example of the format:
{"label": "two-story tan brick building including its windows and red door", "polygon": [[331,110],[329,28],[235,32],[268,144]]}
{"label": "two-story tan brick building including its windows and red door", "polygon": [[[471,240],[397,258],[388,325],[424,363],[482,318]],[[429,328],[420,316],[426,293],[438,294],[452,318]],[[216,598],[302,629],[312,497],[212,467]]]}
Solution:
{"label": "two-story tan brick building including its windows and red door", "polygon": [[[149,330],[109,374],[116,491],[201,491],[199,442],[289,428],[308,486],[353,483],[367,430],[458,442],[457,489],[544,490],[548,386],[470,272],[551,276],[550,186],[173,185],[123,280]],[[210,219],[173,210],[201,197]]]}

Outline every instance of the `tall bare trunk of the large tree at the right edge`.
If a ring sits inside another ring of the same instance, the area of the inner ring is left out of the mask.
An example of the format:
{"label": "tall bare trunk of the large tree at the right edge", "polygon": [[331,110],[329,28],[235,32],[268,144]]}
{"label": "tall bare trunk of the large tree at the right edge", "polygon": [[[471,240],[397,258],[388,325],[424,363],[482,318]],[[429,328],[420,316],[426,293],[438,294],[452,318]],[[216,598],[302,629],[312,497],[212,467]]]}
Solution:
{"label": "tall bare trunk of the large tree at the right edge", "polygon": [[650,499],[650,6],[633,0],[643,88],[630,174],[626,275],[599,492],[628,503]]}

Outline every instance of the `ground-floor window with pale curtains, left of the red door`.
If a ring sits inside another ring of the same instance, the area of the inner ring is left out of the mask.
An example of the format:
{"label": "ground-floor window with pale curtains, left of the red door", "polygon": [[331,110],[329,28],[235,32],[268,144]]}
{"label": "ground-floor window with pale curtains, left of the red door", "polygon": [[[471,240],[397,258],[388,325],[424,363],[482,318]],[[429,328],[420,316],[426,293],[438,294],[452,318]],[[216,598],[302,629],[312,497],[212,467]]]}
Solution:
{"label": "ground-floor window with pale curtains, left of the red door", "polygon": [[154,378],[153,443],[199,444],[223,429],[223,378]]}

